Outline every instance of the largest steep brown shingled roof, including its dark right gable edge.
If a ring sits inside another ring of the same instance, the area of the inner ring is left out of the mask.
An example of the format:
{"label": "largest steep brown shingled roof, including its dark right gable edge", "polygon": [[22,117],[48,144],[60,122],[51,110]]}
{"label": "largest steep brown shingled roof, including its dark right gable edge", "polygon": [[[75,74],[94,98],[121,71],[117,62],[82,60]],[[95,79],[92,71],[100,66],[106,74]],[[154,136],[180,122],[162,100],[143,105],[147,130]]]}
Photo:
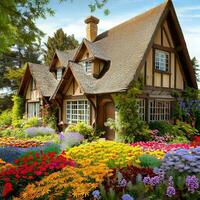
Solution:
{"label": "largest steep brown shingled roof, including its dark right gable edge", "polygon": [[[171,0],[148,10],[100,35],[94,42],[84,39],[76,55],[85,45],[94,57],[110,61],[109,70],[92,85],[93,94],[120,92],[127,90],[137,79],[154,38],[164,20],[170,15],[174,23],[175,35],[183,51],[178,52],[182,60],[187,83],[197,88],[195,73],[190,61],[185,40]],[[75,57],[76,57],[75,55]]]}

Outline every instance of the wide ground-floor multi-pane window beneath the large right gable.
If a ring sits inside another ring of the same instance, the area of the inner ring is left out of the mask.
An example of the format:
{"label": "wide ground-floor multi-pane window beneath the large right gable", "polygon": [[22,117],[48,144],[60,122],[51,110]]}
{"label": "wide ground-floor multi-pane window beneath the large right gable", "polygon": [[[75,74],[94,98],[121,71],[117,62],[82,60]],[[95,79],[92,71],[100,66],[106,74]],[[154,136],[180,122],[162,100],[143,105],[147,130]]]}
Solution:
{"label": "wide ground-floor multi-pane window beneath the large right gable", "polygon": [[150,100],[149,121],[168,121],[171,114],[171,101]]}

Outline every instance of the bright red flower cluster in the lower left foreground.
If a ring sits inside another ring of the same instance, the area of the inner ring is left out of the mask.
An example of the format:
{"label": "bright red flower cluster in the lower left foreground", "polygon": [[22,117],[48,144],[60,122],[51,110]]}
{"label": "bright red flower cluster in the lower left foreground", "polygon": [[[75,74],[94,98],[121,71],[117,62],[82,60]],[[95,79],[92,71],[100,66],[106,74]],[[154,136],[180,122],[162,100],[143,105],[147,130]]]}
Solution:
{"label": "bright red flower cluster in the lower left foreground", "polygon": [[52,172],[58,171],[67,165],[75,166],[71,159],[66,159],[65,153],[56,155],[54,152],[44,154],[30,152],[29,156],[24,156],[15,160],[15,168],[4,170],[0,173],[0,185],[3,186],[2,196],[6,197],[10,193],[16,193],[32,181],[40,180]]}

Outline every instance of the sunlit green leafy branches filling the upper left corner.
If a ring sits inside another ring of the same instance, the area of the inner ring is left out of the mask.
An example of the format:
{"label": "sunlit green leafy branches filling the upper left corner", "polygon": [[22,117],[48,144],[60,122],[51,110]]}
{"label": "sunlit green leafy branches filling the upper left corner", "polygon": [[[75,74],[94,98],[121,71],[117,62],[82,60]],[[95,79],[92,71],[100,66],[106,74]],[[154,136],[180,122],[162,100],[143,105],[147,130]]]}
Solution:
{"label": "sunlit green leafy branches filling the upper left corner", "polygon": [[30,45],[40,41],[44,34],[35,20],[54,12],[49,0],[1,0],[0,1],[0,53],[16,44]]}

